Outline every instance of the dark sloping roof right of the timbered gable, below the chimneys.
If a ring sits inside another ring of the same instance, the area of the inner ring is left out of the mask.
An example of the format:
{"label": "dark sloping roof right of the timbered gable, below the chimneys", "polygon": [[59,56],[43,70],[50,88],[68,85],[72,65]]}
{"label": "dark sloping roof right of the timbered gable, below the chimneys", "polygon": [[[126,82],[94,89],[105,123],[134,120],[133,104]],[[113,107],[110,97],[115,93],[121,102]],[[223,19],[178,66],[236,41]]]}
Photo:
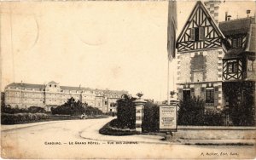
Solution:
{"label": "dark sloping roof right of the timbered gable, below the chimneys", "polygon": [[220,22],[218,27],[224,33],[224,36],[235,34],[245,34],[250,31],[251,24],[255,23],[253,17],[244,19],[228,20]]}

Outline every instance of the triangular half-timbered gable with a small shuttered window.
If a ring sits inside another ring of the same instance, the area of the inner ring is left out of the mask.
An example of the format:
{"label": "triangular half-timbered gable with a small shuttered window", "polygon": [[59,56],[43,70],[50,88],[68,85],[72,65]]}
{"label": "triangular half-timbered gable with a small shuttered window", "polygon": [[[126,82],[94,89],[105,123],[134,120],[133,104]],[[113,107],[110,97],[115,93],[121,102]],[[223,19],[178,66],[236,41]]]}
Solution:
{"label": "triangular half-timbered gable with a small shuttered window", "polygon": [[224,35],[212,20],[204,4],[199,1],[177,38],[177,51],[220,48],[222,38]]}

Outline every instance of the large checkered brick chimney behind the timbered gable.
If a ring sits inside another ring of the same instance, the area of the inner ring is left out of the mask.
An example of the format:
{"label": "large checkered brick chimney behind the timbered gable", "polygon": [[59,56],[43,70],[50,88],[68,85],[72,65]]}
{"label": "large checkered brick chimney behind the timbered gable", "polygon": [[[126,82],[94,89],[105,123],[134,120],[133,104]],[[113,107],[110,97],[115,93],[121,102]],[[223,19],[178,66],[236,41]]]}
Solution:
{"label": "large checkered brick chimney behind the timbered gable", "polygon": [[213,20],[215,20],[215,22],[218,25],[218,8],[219,8],[219,4],[221,3],[221,1],[206,1],[205,5],[209,11],[209,13],[212,15]]}

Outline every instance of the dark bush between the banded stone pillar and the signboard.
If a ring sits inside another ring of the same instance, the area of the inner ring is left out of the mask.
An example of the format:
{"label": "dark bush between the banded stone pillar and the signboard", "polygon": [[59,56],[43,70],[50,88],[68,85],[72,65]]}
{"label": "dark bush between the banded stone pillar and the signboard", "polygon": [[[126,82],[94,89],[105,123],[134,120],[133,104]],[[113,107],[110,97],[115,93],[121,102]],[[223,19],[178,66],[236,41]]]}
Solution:
{"label": "dark bush between the banded stone pillar and the signboard", "polygon": [[159,132],[159,106],[147,102],[144,106],[143,132]]}

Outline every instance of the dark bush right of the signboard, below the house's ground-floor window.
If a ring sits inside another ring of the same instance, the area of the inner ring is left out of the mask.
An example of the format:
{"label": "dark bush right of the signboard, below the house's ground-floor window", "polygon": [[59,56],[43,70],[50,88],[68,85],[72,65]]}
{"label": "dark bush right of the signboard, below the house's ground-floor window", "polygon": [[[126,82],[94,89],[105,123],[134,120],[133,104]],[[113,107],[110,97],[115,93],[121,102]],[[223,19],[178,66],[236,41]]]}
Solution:
{"label": "dark bush right of the signboard, below the house's ground-floor window", "polygon": [[178,125],[204,125],[205,101],[191,97],[180,101]]}

